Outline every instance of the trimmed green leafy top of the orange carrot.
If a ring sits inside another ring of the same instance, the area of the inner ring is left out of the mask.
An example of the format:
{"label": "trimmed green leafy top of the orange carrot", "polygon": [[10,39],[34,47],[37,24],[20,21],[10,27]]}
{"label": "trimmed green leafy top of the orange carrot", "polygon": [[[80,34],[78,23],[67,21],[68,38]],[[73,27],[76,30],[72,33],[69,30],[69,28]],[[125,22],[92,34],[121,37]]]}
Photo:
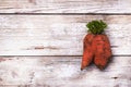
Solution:
{"label": "trimmed green leafy top of the orange carrot", "polygon": [[104,29],[107,27],[107,24],[100,21],[92,21],[86,24],[86,27],[88,28],[88,32],[98,35],[103,34]]}

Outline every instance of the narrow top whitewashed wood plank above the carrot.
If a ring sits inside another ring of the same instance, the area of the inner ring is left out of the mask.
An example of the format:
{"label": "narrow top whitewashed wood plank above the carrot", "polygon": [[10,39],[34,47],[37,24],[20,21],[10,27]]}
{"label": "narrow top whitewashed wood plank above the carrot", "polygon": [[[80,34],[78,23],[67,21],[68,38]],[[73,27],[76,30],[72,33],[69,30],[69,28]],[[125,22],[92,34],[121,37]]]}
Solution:
{"label": "narrow top whitewashed wood plank above the carrot", "polygon": [[0,13],[131,13],[131,0],[0,0]]}

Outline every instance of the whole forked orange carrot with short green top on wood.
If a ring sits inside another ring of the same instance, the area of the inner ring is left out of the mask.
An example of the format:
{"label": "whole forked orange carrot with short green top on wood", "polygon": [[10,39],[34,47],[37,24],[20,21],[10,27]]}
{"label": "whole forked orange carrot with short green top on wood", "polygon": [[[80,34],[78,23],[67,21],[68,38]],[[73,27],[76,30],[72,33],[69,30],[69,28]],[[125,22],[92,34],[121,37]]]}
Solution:
{"label": "whole forked orange carrot with short green top on wood", "polygon": [[107,24],[103,21],[92,21],[87,25],[90,34],[84,38],[83,58],[81,70],[84,70],[93,61],[95,65],[104,70],[111,58],[111,49],[108,37],[104,34]]}

